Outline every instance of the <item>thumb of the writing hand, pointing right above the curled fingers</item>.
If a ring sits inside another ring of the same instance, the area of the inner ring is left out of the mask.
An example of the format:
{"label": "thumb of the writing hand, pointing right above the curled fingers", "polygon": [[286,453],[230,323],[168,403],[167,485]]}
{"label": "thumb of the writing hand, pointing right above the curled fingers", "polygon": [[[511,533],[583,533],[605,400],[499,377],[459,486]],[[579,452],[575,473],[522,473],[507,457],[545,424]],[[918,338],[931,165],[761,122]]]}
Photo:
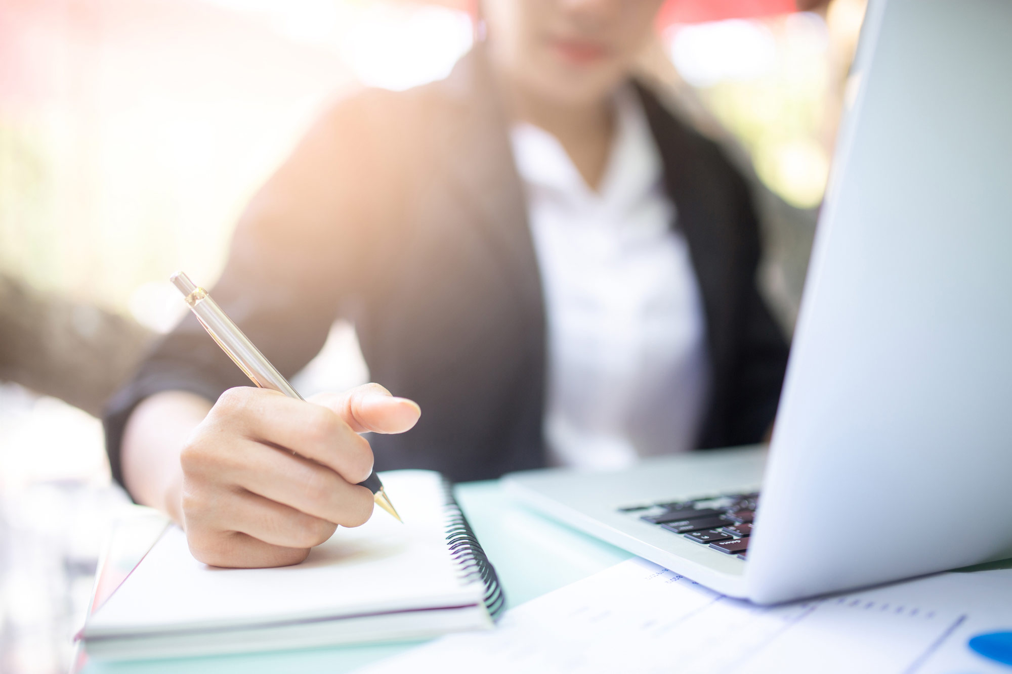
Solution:
{"label": "thumb of the writing hand, pointing right above the curled fingers", "polygon": [[418,403],[397,398],[378,384],[363,384],[343,393],[324,393],[310,398],[311,403],[330,408],[356,433],[403,433],[422,414]]}

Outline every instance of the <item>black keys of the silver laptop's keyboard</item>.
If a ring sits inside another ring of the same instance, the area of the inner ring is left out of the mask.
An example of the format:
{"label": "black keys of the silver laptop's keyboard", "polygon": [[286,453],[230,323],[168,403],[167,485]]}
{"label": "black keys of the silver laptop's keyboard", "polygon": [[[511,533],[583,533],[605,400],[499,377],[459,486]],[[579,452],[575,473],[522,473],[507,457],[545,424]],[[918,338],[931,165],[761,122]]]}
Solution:
{"label": "black keys of the silver laptop's keyboard", "polygon": [[752,492],[626,506],[618,510],[694,543],[745,560],[748,558],[752,518],[758,503],[759,493]]}

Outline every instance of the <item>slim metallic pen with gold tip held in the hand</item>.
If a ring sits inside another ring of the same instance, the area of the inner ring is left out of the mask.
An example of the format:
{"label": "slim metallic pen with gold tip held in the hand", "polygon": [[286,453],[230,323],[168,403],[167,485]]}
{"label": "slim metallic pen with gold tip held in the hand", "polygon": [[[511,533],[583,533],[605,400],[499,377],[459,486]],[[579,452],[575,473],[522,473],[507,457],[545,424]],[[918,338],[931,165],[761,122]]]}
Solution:
{"label": "slim metallic pen with gold tip held in the hand", "polygon": [[[189,276],[181,271],[169,276],[169,280],[183,293],[190,311],[193,312],[196,320],[200,322],[212,339],[218,342],[222,350],[228,353],[229,357],[239,365],[239,369],[246,372],[246,376],[250,377],[253,384],[261,389],[280,392],[288,398],[305,400],[260,353],[260,349],[253,345],[253,342],[239,329],[239,326],[233,323],[232,319],[222,311],[218,303],[212,300],[206,290],[196,285]],[[375,471],[369,474],[365,482],[358,483],[358,486],[365,487],[372,492],[372,500],[377,506],[396,517],[399,522],[404,521],[394,509],[394,504],[390,502],[390,497],[384,491],[383,483],[380,482]]]}

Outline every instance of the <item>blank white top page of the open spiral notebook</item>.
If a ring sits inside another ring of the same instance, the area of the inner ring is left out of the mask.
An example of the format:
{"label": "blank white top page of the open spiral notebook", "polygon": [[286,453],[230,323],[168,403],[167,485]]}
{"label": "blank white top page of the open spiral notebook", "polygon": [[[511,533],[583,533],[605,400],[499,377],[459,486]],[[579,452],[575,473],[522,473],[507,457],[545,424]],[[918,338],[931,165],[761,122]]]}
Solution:
{"label": "blank white top page of the open spiral notebook", "polygon": [[404,524],[376,508],[339,527],[306,562],[276,569],[219,569],[193,559],[170,526],[104,605],[86,637],[240,626],[480,604],[446,543],[446,492],[438,474],[384,474]]}

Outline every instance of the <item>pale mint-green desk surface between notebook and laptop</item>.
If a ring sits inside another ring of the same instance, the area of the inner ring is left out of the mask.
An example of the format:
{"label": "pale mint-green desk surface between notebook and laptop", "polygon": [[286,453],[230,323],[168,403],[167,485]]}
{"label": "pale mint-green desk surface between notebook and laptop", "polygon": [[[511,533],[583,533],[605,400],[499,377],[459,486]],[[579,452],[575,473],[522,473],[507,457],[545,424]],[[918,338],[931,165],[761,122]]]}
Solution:
{"label": "pale mint-green desk surface between notebook and laptop", "polygon": [[[458,485],[456,498],[516,606],[632,557],[505,496],[498,482]],[[347,672],[412,648],[377,645],[144,662],[91,661],[86,674]]]}

